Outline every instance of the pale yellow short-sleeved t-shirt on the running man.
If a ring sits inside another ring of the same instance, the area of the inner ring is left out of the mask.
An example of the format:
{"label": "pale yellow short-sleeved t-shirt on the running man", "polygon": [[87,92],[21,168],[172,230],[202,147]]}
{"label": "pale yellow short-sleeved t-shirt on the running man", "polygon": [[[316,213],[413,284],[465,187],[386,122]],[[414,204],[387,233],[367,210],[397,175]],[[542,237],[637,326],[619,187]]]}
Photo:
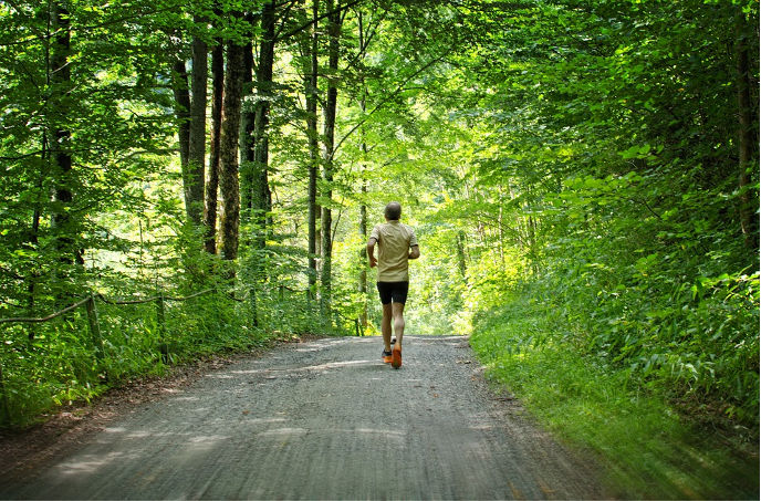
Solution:
{"label": "pale yellow short-sleeved t-shirt on the running man", "polygon": [[369,238],[378,242],[378,282],[408,282],[409,248],[417,246],[415,231],[392,220],[373,228]]}

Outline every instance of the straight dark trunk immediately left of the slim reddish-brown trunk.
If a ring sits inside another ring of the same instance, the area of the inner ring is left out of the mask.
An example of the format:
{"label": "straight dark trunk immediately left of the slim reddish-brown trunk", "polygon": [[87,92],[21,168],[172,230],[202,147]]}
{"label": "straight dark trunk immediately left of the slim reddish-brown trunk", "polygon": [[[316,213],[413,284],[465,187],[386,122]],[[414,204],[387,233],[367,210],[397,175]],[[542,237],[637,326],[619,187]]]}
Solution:
{"label": "straight dark trunk immediately left of the slim reddish-brown trunk", "polygon": [[[201,20],[196,19],[196,22]],[[208,79],[208,48],[199,36],[192,40],[192,77],[190,124],[188,126],[188,166],[185,203],[188,219],[198,228],[204,221],[204,184],[206,161],[206,81]]]}

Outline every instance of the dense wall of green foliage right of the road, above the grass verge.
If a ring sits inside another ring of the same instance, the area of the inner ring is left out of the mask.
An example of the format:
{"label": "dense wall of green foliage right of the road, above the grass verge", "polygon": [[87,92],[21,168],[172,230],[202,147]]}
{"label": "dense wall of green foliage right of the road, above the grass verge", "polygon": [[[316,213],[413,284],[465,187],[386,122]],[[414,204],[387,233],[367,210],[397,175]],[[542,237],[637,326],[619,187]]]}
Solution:
{"label": "dense wall of green foliage right of the road, above the grass verge", "polygon": [[758,6],[640,7],[538,2],[466,18],[479,43],[457,58],[482,70],[454,72],[470,92],[450,123],[470,138],[468,202],[460,194],[438,217],[477,237],[471,314],[509,286],[498,255],[510,246],[509,268],[555,315],[553,342],[753,428],[758,226],[743,233],[741,210],[743,192],[758,200],[758,171],[738,185],[728,111],[758,69],[738,75],[727,48],[747,41],[758,62]]}

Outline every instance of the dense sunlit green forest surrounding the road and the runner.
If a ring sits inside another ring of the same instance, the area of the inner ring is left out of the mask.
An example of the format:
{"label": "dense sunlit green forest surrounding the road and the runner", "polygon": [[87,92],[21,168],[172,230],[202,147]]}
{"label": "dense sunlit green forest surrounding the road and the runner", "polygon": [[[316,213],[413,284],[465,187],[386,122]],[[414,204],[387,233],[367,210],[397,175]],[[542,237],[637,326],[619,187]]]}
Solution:
{"label": "dense sunlit green forest surrounding the road and the runner", "polygon": [[3,425],[376,334],[364,243],[398,200],[408,332],[758,427],[757,1],[4,0],[0,27]]}

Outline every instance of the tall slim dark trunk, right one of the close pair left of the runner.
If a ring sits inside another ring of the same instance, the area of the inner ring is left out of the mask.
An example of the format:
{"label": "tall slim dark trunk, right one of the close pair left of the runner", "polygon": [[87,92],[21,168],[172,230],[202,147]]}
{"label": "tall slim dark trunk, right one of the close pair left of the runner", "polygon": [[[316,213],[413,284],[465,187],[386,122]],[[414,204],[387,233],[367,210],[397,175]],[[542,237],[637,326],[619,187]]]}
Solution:
{"label": "tall slim dark trunk, right one of the close pair left of the runner", "polygon": [[[334,8],[333,0],[327,0],[327,11],[332,12],[327,17],[327,36],[330,39],[327,50],[327,97],[325,100],[325,124],[323,128],[323,171],[322,177],[325,181],[326,200],[333,197],[333,149],[335,140],[335,112],[338,98],[338,87],[336,77],[338,72],[338,38],[341,36],[341,0],[336,1]],[[331,310],[331,268],[332,268],[332,213],[331,208],[322,208],[322,306],[325,314]]]}

